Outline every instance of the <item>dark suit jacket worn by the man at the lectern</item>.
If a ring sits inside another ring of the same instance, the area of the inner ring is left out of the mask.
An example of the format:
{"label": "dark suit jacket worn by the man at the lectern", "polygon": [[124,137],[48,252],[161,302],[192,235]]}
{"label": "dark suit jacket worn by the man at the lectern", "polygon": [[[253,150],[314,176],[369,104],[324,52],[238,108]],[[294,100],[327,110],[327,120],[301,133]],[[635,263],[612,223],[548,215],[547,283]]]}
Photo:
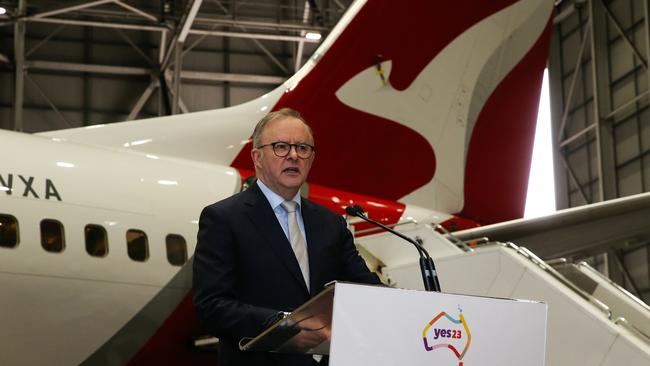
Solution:
{"label": "dark suit jacket worn by the man at the lectern", "polygon": [[257,184],[203,209],[194,253],[194,306],[220,340],[218,364],[311,365],[311,356],[240,352],[278,311],[292,311],[333,280],[379,284],[359,256],[345,220],[305,198],[308,290],[298,261]]}

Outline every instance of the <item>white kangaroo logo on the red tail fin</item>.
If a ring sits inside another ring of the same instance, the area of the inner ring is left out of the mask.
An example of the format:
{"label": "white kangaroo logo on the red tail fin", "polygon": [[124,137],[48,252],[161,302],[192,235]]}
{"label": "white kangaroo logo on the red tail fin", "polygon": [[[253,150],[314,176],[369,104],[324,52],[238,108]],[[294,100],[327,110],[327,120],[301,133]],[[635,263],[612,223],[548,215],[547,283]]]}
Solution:
{"label": "white kangaroo logo on the red tail fin", "polygon": [[[372,66],[336,92],[347,106],[399,122],[433,147],[433,179],[402,197],[403,202],[431,202],[429,208],[448,213],[462,210],[465,159],[476,119],[540,37],[552,9],[549,0],[522,0],[483,19],[436,55],[404,91],[384,84]],[[381,67],[388,78],[392,62]]]}

